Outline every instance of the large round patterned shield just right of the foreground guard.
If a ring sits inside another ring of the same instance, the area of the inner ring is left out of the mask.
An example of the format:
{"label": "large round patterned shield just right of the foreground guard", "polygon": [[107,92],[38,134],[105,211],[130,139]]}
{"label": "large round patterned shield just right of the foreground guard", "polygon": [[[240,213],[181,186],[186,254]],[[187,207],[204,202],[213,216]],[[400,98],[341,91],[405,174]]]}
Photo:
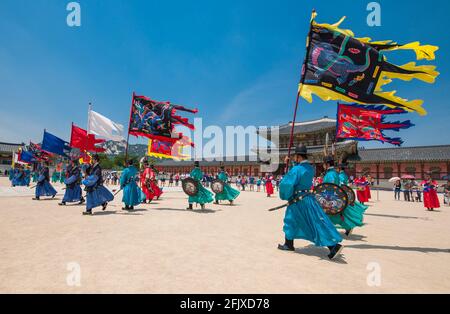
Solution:
{"label": "large round patterned shield just right of the foreground guard", "polygon": [[347,193],[336,184],[318,185],[314,189],[314,194],[327,215],[339,215],[348,205]]}

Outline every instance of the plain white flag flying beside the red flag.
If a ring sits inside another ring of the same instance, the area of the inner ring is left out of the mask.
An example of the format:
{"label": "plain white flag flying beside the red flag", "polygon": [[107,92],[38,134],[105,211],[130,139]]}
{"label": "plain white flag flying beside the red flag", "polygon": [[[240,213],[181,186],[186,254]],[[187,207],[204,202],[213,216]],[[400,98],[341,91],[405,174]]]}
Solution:
{"label": "plain white flag flying beside the red flag", "polygon": [[123,136],[123,125],[118,124],[105,116],[89,111],[89,133],[100,138],[120,142],[125,140]]}

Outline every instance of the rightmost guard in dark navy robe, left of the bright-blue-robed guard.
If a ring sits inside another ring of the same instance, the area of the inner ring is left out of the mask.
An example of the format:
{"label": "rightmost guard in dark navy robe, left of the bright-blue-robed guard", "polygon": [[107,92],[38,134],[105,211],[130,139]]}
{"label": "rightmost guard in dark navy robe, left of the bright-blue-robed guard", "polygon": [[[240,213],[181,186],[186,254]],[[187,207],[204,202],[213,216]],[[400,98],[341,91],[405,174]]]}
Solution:
{"label": "rightmost guard in dark navy robe, left of the bright-blue-robed guard", "polygon": [[92,209],[102,206],[106,210],[108,202],[114,200],[114,195],[103,186],[102,168],[100,167],[100,157],[94,155],[94,165],[87,169],[87,177],[83,180],[86,186],[86,211],[83,215],[92,215]]}

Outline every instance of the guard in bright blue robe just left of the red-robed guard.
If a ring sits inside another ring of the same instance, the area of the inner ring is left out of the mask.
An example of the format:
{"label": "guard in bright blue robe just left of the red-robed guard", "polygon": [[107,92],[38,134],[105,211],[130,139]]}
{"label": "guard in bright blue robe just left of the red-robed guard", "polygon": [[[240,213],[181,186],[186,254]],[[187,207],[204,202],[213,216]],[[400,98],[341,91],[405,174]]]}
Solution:
{"label": "guard in bright blue robe just left of the red-robed guard", "polygon": [[128,161],[128,167],[124,169],[120,177],[120,188],[123,190],[122,202],[125,203],[123,210],[133,210],[143,201],[142,190],[136,183],[139,178],[139,171],[133,166],[133,161]]}

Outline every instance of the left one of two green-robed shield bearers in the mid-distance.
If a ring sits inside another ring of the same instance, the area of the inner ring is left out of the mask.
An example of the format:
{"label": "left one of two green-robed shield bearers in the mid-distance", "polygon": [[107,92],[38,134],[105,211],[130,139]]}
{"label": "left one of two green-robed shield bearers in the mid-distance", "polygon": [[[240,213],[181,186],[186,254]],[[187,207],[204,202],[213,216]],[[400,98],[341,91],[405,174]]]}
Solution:
{"label": "left one of two green-robed shield bearers in the mid-distance", "polygon": [[213,194],[205,189],[201,183],[203,179],[203,172],[200,169],[200,163],[194,163],[190,177],[183,181],[183,190],[189,195],[189,207],[187,210],[192,210],[194,203],[200,204],[202,209],[205,209],[205,204],[214,201]]}

